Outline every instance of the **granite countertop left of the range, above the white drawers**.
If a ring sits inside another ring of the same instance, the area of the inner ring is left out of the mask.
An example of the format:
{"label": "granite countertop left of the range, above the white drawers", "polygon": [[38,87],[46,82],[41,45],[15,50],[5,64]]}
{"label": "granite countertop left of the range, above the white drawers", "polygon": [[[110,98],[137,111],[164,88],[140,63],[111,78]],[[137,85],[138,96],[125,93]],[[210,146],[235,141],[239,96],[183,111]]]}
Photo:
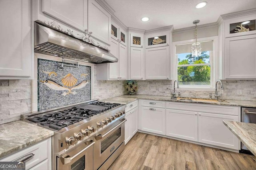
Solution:
{"label": "granite countertop left of the range, above the white drawers", "polygon": [[2,124],[0,125],[0,158],[52,135],[54,131],[20,120]]}

